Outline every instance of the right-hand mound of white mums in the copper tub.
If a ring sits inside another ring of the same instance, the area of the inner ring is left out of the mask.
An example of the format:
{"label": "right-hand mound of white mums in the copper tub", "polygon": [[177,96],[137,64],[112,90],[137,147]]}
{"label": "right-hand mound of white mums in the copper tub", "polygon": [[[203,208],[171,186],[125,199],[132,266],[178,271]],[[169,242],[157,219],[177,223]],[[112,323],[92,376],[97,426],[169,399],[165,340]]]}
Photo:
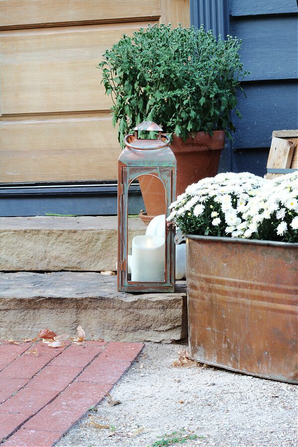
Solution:
{"label": "right-hand mound of white mums in the copper tub", "polygon": [[298,172],[266,181],[244,208],[239,237],[270,231],[285,236],[298,229]]}

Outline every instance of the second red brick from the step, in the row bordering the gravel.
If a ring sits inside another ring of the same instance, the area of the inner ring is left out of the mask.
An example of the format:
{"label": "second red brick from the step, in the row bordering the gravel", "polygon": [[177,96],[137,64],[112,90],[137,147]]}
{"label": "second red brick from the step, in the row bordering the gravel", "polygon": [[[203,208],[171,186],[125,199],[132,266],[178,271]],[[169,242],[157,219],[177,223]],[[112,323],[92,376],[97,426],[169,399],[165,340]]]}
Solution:
{"label": "second red brick from the step, in the row bordering the gravel", "polygon": [[84,382],[94,382],[99,384],[115,383],[131,366],[130,362],[125,360],[109,360],[98,356],[87,366],[76,380]]}

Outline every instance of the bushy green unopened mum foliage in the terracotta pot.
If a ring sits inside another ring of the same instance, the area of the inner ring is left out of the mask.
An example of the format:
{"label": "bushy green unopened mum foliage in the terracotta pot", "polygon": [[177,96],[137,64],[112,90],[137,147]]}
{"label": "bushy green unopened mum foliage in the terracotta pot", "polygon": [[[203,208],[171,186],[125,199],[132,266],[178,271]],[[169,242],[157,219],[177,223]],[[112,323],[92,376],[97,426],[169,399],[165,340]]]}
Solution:
{"label": "bushy green unopened mum foliage in the terracotta pot", "polygon": [[197,131],[225,130],[231,138],[230,111],[240,115],[236,91],[248,73],[240,63],[240,46],[236,37],[217,40],[203,27],[149,25],[133,37],[123,34],[98,65],[113,99],[121,146],[124,135],[145,120],[184,141]]}

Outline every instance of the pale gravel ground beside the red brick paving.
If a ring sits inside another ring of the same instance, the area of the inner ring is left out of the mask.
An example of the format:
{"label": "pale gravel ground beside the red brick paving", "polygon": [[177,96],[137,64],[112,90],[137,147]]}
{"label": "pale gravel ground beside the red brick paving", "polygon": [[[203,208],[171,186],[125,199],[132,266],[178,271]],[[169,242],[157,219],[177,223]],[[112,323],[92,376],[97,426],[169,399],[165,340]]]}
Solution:
{"label": "pale gravel ground beside the red brick paving", "polygon": [[[297,446],[295,385],[202,366],[173,368],[184,348],[148,343],[111,391],[121,404],[104,400],[57,446],[151,446],[182,428],[198,435],[186,446]],[[90,425],[90,418],[112,431]]]}

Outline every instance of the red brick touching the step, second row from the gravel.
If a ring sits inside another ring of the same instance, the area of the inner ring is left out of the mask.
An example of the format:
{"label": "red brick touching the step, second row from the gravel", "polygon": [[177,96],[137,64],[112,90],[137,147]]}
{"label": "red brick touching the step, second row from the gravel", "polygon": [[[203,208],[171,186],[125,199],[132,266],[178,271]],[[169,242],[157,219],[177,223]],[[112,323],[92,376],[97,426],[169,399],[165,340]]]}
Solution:
{"label": "red brick touching the step, second row from the gravel", "polygon": [[51,362],[51,366],[72,366],[84,368],[104,348],[104,344],[97,343],[95,346],[71,345],[60,356]]}

